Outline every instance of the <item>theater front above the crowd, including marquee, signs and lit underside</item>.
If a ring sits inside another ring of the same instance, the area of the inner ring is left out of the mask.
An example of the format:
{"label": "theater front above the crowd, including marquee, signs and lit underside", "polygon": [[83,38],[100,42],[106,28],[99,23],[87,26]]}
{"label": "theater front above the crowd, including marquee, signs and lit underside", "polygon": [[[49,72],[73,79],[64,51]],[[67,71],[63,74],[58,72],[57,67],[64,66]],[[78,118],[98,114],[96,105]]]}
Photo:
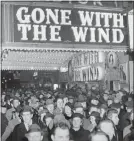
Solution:
{"label": "theater front above the crowd, including marquee, signs and lit underside", "polygon": [[51,71],[53,83],[130,90],[127,4],[2,2],[2,70]]}

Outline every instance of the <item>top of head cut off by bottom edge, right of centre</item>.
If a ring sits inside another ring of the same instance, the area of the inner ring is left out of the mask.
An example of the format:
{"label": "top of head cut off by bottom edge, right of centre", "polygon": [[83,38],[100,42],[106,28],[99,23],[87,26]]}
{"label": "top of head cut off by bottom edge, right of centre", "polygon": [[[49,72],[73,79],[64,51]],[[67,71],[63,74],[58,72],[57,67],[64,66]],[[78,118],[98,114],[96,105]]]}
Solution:
{"label": "top of head cut off by bottom edge, right of centre", "polygon": [[106,133],[102,131],[96,131],[89,135],[89,141],[110,141]]}

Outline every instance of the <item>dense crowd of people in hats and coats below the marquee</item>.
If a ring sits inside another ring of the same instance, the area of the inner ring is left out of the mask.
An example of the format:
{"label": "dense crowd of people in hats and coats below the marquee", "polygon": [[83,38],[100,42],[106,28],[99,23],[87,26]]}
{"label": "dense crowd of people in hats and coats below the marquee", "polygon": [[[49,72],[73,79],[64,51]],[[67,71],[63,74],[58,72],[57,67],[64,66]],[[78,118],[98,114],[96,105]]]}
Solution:
{"label": "dense crowd of people in hats and coats below the marquee", "polygon": [[133,93],[6,89],[2,141],[133,141]]}

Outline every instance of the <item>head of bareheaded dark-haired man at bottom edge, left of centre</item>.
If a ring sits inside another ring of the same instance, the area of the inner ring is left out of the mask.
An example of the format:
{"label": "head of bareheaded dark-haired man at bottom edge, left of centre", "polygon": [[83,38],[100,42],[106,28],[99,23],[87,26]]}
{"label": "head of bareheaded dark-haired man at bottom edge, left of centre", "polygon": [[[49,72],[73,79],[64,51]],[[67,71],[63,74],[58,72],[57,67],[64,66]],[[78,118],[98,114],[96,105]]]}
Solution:
{"label": "head of bareheaded dark-haired man at bottom edge, left of centre", "polygon": [[51,130],[52,141],[69,141],[69,127],[64,122],[58,122]]}

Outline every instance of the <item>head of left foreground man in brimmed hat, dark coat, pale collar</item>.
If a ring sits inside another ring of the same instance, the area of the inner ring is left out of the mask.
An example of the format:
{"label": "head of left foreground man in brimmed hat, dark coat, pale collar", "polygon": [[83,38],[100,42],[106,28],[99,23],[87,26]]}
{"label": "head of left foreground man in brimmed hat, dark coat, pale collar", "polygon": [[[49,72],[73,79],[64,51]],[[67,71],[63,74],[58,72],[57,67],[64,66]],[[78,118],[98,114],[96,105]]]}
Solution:
{"label": "head of left foreground man in brimmed hat, dark coat, pale collar", "polygon": [[23,122],[29,124],[33,117],[33,110],[30,106],[24,106],[20,112]]}

